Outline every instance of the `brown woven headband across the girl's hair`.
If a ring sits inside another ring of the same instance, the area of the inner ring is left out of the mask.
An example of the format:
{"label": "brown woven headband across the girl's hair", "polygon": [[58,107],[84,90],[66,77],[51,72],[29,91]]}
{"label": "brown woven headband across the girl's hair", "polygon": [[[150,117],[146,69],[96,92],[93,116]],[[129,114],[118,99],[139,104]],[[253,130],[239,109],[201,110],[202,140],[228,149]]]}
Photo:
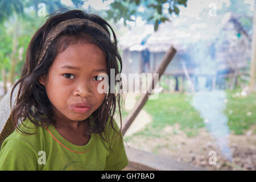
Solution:
{"label": "brown woven headband across the girl's hair", "polygon": [[46,42],[44,43],[43,46],[43,51],[39,57],[38,65],[41,63],[43,56],[46,54],[46,51],[49,47],[49,45],[52,43],[52,40],[54,40],[65,28],[69,25],[79,25],[82,26],[84,23],[87,23],[89,27],[97,28],[98,30],[101,30],[106,36],[110,37],[109,33],[100,26],[100,24],[95,23],[89,19],[81,19],[81,18],[73,18],[73,19],[68,19],[63,22],[60,22],[57,24],[54,28],[52,28],[51,31],[47,34],[46,37]]}

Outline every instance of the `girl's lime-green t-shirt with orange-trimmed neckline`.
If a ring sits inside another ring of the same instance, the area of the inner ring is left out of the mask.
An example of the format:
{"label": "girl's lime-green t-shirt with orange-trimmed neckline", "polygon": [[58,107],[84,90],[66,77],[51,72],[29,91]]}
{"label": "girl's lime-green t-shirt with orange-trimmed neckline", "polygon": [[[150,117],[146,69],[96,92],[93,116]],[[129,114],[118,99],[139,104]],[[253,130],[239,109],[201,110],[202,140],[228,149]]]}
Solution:
{"label": "girl's lime-green t-shirt with orange-trimmed neckline", "polygon": [[[89,118],[92,125],[93,117]],[[113,124],[119,131],[117,123]],[[63,138],[53,125],[48,126],[50,132],[28,119],[24,125],[30,127],[23,127],[28,133],[36,134],[25,135],[15,130],[9,135],[1,146],[0,170],[121,170],[128,164],[122,137],[111,126],[108,129],[108,123],[103,136],[108,140],[109,131],[112,151],[100,134],[91,134],[86,145],[77,146]]]}

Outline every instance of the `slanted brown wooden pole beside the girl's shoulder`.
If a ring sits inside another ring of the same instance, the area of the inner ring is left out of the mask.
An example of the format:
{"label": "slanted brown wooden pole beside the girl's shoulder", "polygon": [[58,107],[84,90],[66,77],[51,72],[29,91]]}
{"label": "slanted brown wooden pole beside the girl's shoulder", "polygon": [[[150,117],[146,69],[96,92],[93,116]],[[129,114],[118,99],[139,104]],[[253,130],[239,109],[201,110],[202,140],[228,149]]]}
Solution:
{"label": "slanted brown wooden pole beside the girl's shoulder", "polygon": [[[159,74],[159,80],[160,77],[163,75],[164,71],[166,70],[166,67],[168,66],[168,64],[171,62],[171,60],[174,58],[174,55],[176,53],[176,49],[174,47],[171,47],[166,54],[163,57],[162,62],[160,63],[158,69],[156,69],[155,74]],[[131,123],[133,123],[134,119],[137,117],[137,115],[139,114],[139,111],[141,111],[142,107],[146,104],[148,97],[150,96],[151,92],[151,88],[152,90],[155,88],[155,78],[154,75],[152,76],[152,82],[151,85],[148,86],[147,88],[147,92],[144,93],[138,100],[137,104],[135,105],[135,107],[133,108],[133,110],[131,110],[131,112],[129,113],[129,115],[127,115],[124,125],[122,127],[122,134],[125,135],[127,129],[130,127]],[[157,83],[157,82],[156,82]]]}

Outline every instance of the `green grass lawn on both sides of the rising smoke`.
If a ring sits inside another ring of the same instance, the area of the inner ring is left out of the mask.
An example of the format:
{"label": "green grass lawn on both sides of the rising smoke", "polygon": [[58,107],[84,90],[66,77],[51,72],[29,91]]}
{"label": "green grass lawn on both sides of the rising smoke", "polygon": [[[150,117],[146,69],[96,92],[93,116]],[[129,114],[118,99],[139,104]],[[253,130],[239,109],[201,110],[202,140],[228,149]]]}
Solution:
{"label": "green grass lawn on both sides of the rising smoke", "polygon": [[[256,125],[256,93],[237,96],[238,92],[239,90],[226,90],[227,102],[223,113],[228,117],[230,131],[234,134],[245,134],[250,126]],[[161,130],[175,123],[179,123],[180,130],[188,137],[197,135],[197,129],[205,127],[205,123],[199,111],[191,105],[191,99],[191,94],[160,93],[158,99],[148,100],[143,109],[151,114],[152,123],[135,135],[162,137]],[[253,132],[256,133],[255,130]]]}

